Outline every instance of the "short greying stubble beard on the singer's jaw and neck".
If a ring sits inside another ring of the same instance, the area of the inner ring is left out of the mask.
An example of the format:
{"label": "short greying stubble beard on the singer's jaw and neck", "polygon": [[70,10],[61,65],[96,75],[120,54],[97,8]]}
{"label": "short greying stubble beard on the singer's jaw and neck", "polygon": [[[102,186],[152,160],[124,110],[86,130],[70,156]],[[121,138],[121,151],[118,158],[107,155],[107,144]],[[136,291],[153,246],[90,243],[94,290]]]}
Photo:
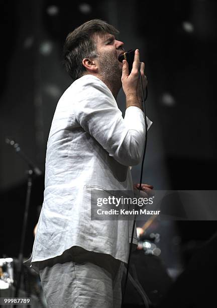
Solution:
{"label": "short greying stubble beard on the singer's jaw and neck", "polygon": [[121,88],[122,65],[114,54],[101,54],[98,56],[100,76],[107,83]]}

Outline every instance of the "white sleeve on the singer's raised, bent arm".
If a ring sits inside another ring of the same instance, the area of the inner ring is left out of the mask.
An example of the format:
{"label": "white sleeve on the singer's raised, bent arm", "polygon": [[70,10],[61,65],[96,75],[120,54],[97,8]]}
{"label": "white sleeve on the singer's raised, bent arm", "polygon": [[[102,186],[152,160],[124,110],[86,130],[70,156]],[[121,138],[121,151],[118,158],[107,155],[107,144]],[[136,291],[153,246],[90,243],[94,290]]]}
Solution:
{"label": "white sleeve on the singer's raised, bent arm", "polygon": [[141,109],[127,108],[123,119],[111,91],[96,79],[85,85],[74,106],[74,114],[81,127],[120,164],[134,166],[140,163],[145,140]]}

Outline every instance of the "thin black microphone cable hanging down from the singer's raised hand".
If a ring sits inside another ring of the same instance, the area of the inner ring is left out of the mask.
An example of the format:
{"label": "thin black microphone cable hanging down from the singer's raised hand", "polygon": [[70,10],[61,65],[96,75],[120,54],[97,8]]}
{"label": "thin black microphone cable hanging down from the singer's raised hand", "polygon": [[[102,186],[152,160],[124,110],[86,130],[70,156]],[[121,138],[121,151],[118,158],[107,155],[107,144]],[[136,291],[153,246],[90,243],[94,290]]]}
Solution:
{"label": "thin black microphone cable hanging down from the singer's raised hand", "polygon": [[[144,161],[145,161],[145,153],[146,153],[146,146],[147,146],[147,133],[148,133],[148,123],[147,123],[147,118],[146,118],[146,106],[145,106],[145,101],[147,100],[147,97],[148,97],[148,88],[146,87],[146,97],[144,98],[144,90],[143,90],[143,83],[142,83],[142,76],[141,76],[140,69],[139,69],[139,76],[140,76],[140,83],[141,83],[141,89],[142,89],[143,112],[145,116],[145,145],[144,145],[144,151],[143,151],[143,159],[142,159],[141,175],[140,175],[140,186],[139,186],[139,190],[142,190],[143,166],[144,166]],[[122,308],[124,307],[124,297],[125,297],[125,292],[126,292],[127,282],[128,282],[128,273],[129,273],[131,253],[132,253],[132,248],[133,248],[133,236],[134,236],[135,225],[136,225],[136,214],[134,215],[134,223],[133,223],[133,229],[132,229],[132,235],[131,235],[130,251],[129,251],[128,265],[127,265],[127,274],[126,274],[125,286],[124,286],[124,292],[123,292],[123,298],[122,298]]]}

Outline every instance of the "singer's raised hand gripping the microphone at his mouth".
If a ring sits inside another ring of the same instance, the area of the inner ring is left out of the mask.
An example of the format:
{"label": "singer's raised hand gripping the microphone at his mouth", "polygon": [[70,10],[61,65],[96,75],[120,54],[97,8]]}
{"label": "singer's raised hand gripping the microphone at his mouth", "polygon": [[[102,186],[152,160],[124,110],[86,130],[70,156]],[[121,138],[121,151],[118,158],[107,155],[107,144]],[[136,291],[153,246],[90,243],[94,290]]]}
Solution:
{"label": "singer's raised hand gripping the microphone at his mouth", "polygon": [[126,60],[123,60],[123,70],[122,70],[122,87],[124,93],[126,95],[126,108],[130,106],[136,106],[142,109],[141,102],[142,102],[142,89],[141,83],[139,78],[138,70],[140,68],[142,82],[143,82],[143,89],[147,86],[147,78],[145,76],[145,63],[140,62],[139,58],[139,49],[136,49],[134,55],[134,62],[133,68],[129,75],[129,65]]}

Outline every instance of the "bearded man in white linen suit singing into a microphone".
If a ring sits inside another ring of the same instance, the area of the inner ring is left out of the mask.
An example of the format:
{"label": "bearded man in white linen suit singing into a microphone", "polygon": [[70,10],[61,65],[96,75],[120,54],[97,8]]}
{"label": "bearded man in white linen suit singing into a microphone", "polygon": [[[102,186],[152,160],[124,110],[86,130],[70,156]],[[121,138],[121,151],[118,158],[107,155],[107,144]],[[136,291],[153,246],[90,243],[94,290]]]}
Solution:
{"label": "bearded man in white linen suit singing into a microphone", "polygon": [[[31,257],[49,308],[121,306],[133,223],[91,220],[90,211],[91,191],[133,191],[130,166],[139,164],[143,154],[138,69],[145,88],[145,64],[137,49],[129,74],[127,61],[118,60],[124,52],[118,33],[104,21],[91,20],[65,41],[64,62],[73,83],[51,125],[44,203]],[[125,118],[116,102],[121,87]],[[142,187],[146,192],[153,188]]]}

